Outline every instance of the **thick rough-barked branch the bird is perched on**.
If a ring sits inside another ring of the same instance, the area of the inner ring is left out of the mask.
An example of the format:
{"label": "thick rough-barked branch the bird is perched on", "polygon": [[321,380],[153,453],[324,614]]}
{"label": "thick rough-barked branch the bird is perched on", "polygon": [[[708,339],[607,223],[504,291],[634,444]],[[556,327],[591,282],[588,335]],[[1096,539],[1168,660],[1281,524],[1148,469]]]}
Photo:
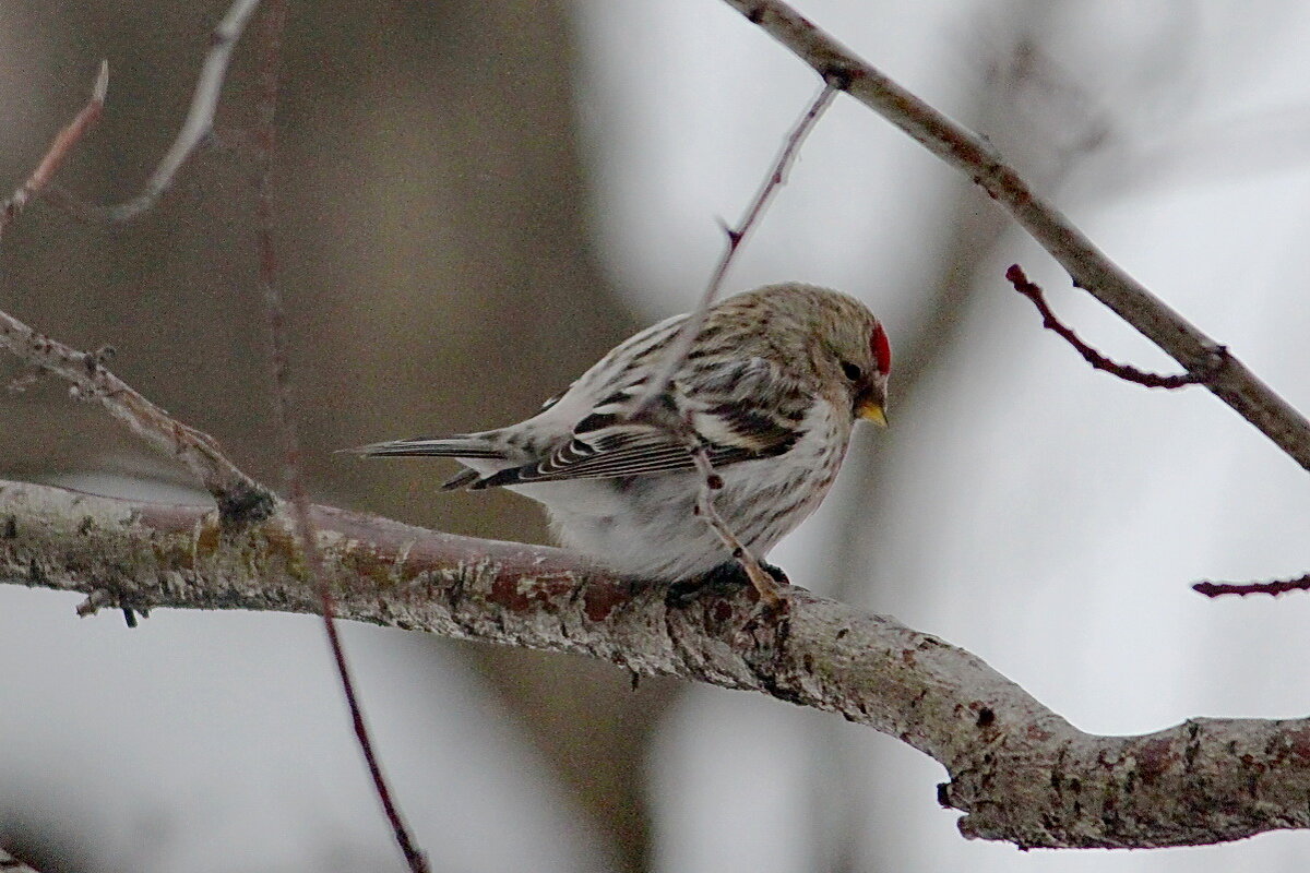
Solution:
{"label": "thick rough-barked branch the bird is perched on", "polygon": [[[967,836],[1159,847],[1310,826],[1310,720],[1196,719],[1086,734],[968,652],[844,603],[665,603],[567,552],[314,508],[342,618],[612,661],[837,712],[931,755]],[[316,613],[284,510],[241,529],[203,507],[0,482],[0,581],[92,606]]]}

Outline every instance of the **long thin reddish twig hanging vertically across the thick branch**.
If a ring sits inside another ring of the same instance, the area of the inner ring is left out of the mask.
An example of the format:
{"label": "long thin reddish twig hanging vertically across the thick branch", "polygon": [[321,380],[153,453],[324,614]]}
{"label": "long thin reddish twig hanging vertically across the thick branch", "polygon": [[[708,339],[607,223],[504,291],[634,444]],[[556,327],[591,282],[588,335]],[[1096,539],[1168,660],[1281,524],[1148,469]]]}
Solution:
{"label": "long thin reddish twig hanging vertically across the thick branch", "polygon": [[368,725],[364,721],[363,707],[355,694],[355,682],[351,678],[350,665],[346,661],[346,650],[337,632],[337,609],[331,589],[328,585],[328,573],[324,569],[322,555],[318,551],[318,537],[313,518],[310,517],[309,496],[305,492],[304,478],[300,474],[300,436],[295,415],[295,390],[291,385],[287,310],[282,298],[282,289],[276,283],[278,263],[272,243],[272,160],[276,152],[275,122],[282,34],[286,30],[287,22],[286,0],[271,0],[266,14],[267,20],[263,34],[263,98],[261,101],[258,128],[259,196],[257,237],[259,249],[259,284],[263,287],[265,312],[269,321],[269,366],[272,370],[274,407],[278,432],[282,435],[283,457],[286,458],[283,475],[287,491],[291,495],[291,516],[295,524],[296,539],[300,541],[300,547],[304,550],[305,564],[322,603],[322,619],[324,630],[328,633],[328,645],[331,649],[337,675],[341,679],[341,688],[346,698],[346,707],[350,711],[355,739],[359,742],[359,749],[364,755],[364,762],[373,781],[373,791],[383,805],[383,811],[390,823],[396,843],[400,846],[410,870],[413,873],[427,873],[430,869],[427,857],[410,835],[401,810],[392,797],[386,776],[383,774],[381,762],[377,759],[377,753],[369,737]]}

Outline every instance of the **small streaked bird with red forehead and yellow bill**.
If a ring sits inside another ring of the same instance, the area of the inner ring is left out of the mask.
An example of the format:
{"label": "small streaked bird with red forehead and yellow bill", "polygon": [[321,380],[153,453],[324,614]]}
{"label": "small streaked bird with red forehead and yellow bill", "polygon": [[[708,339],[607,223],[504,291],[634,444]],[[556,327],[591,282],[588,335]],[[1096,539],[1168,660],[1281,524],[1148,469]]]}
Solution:
{"label": "small streaked bird with red forehead and yellow bill", "polygon": [[[685,437],[630,418],[686,318],[621,343],[525,421],[356,452],[456,458],[465,470],[444,488],[527,495],[565,546],[622,573],[669,582],[731,573],[732,555],[696,512],[703,478]],[[863,304],[787,283],[714,305],[660,401],[722,479],[718,514],[762,558],[819,507],[855,419],[886,425],[889,370],[887,334]]]}

